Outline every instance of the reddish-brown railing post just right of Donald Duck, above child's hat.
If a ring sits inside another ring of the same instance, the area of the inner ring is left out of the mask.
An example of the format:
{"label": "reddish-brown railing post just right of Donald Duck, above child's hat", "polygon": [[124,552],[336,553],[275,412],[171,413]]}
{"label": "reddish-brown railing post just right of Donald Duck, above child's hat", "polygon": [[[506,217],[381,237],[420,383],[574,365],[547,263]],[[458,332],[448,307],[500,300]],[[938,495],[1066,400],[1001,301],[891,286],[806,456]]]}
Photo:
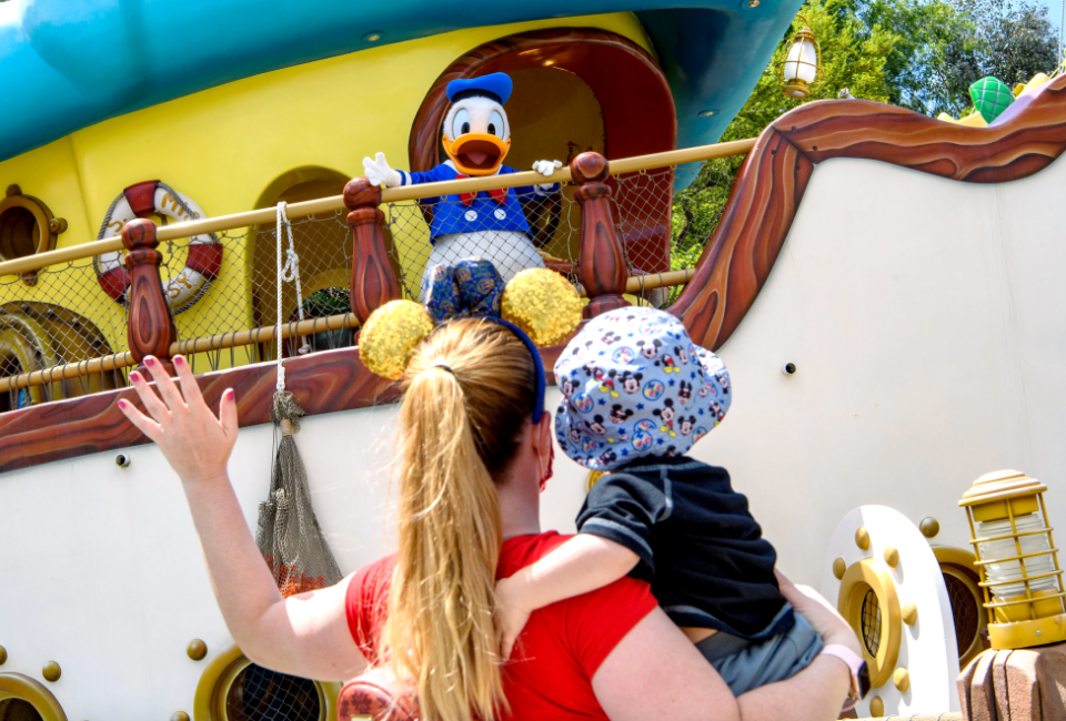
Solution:
{"label": "reddish-brown railing post just right of Donald Duck, above child's hat", "polygon": [[628,271],[611,213],[611,186],[607,185],[607,160],[600,153],[582,153],[570,164],[579,187],[574,195],[581,203],[581,254],[577,280],[589,294],[584,315],[630,305],[622,297]]}

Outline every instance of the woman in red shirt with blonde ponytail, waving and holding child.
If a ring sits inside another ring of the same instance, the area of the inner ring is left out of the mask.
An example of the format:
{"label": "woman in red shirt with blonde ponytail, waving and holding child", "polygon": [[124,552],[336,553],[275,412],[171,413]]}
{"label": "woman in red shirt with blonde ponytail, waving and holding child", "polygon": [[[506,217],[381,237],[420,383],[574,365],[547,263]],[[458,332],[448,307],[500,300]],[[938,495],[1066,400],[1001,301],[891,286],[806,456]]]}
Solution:
{"label": "woman in red shirt with blonde ponytail, waving and holding child", "polygon": [[[422,721],[776,721],[782,709],[790,721],[837,718],[849,683],[843,661],[818,657],[787,681],[734,698],[632,578],[534,611],[511,658],[497,657],[495,581],[566,540],[540,528],[551,419],[540,356],[513,326],[452,321],[414,351],[402,382],[396,554],[288,599],[227,474],[233,392],[215,416],[189,364],[173,363],[180,390],[148,357],[159,395],[131,373],[147,415],[119,407],[178,474],[219,607],[253,662],[339,681],[376,667],[398,698],[416,700]],[[798,593],[787,583],[782,591]],[[848,632],[831,608],[814,606],[807,620],[821,633]]]}

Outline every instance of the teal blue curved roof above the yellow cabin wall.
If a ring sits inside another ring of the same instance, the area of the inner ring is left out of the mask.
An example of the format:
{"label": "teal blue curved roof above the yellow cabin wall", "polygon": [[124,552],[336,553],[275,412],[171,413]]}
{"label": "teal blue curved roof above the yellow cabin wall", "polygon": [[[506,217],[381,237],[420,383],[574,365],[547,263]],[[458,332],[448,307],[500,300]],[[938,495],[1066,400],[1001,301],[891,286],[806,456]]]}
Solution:
{"label": "teal blue curved roof above the yellow cabin wall", "polygon": [[[0,2],[0,160],[108,118],[280,68],[464,28],[636,12],[677,105],[715,142],[801,0],[11,0]],[[443,70],[443,68],[442,68]],[[716,111],[701,116],[703,111]]]}

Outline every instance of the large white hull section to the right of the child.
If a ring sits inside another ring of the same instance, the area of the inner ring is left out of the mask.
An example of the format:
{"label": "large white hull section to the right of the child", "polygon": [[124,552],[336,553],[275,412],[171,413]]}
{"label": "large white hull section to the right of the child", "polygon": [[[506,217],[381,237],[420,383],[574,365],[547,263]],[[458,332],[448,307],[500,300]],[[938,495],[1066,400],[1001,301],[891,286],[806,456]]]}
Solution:
{"label": "large white hull section to the right of the child", "polygon": [[[819,165],[766,285],[721,348],[736,394],[694,455],[730,469],[780,566],[818,585],[862,505],[941,522],[982,474],[1047,484],[1066,521],[1066,159],[976,185]],[[794,376],[781,368],[797,366]]]}

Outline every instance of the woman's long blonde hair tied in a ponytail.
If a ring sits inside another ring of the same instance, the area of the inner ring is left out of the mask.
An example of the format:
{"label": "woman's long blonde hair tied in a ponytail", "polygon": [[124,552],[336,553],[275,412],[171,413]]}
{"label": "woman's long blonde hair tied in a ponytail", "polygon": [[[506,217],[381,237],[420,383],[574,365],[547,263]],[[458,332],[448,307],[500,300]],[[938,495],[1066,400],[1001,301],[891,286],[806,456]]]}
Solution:
{"label": "woman's long blonde hair tied in a ponytail", "polygon": [[529,352],[484,321],[439,328],[404,374],[399,550],[382,642],[425,721],[492,721],[505,704],[493,477],[515,454],[533,388]]}

